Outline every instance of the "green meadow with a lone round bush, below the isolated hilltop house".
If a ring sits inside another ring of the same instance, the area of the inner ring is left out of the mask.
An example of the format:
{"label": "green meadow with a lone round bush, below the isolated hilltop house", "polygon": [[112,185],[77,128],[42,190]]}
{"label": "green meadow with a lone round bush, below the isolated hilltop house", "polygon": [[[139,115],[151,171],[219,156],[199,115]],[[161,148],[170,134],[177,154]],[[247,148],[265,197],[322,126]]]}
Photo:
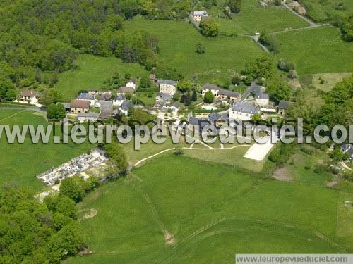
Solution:
{"label": "green meadow with a lone round bush, below the isolated hilltop house", "polygon": [[[240,71],[247,60],[263,54],[249,37],[206,38],[184,21],[145,20],[137,16],[126,23],[125,30],[157,34],[162,63],[181,70],[187,77],[202,75],[207,82],[229,71]],[[198,42],[205,46],[205,54],[196,54]]]}

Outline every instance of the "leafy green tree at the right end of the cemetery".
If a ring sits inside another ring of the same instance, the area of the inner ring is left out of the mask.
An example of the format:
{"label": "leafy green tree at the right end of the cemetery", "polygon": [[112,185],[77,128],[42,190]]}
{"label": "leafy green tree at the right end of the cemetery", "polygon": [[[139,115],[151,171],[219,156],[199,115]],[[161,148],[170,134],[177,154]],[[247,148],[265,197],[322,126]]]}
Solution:
{"label": "leafy green tree at the right end of the cemetery", "polygon": [[109,166],[107,173],[109,177],[119,177],[126,175],[128,170],[128,159],[123,147],[114,142],[105,146],[105,151],[109,156]]}

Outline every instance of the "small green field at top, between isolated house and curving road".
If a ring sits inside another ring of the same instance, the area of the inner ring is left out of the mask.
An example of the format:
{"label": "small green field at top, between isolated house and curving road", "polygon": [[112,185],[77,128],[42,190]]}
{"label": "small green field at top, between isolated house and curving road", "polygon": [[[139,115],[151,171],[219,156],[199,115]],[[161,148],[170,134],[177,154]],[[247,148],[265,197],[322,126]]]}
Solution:
{"label": "small green field at top, between isolated house and curving road", "polygon": [[233,18],[251,34],[276,32],[309,25],[282,6],[261,7],[257,0],[243,1],[241,12]]}

